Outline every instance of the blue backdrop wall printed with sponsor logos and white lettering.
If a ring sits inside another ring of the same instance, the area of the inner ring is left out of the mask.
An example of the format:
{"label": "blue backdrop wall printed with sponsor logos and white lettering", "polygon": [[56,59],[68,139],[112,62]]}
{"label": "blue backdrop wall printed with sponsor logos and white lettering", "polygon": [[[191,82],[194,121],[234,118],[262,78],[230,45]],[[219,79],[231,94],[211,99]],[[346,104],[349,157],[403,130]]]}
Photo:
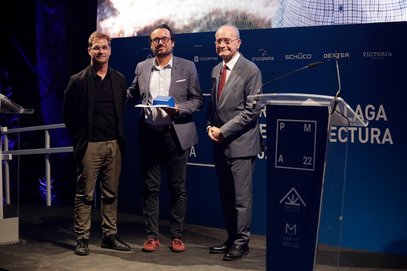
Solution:
{"label": "blue backdrop wall printed with sponsor logos and white lettering", "polygon": [[[331,140],[348,140],[343,247],[407,255],[407,184],[404,167],[407,144],[403,141],[406,134],[403,121],[407,71],[406,26],[406,22],[395,22],[240,32],[242,44],[239,51],[260,68],[263,82],[309,63],[324,61],[322,66],[267,85],[263,93],[333,96],[338,89],[335,54],[341,54],[341,96],[359,116],[370,121],[368,128],[350,130],[348,139],[332,131],[334,135]],[[221,59],[215,52],[213,32],[179,34],[175,37],[174,55],[195,62],[205,98],[204,108],[194,114],[199,143],[190,150],[188,158],[185,221],[224,228],[217,179],[212,166],[212,143],[205,129],[210,73]],[[125,74],[130,86],[137,63],[152,56],[148,37],[116,38],[112,41],[109,65]],[[136,214],[142,214],[136,141],[139,116],[140,109],[127,106],[127,157],[123,161],[119,188],[120,210]],[[267,143],[266,117],[267,111],[263,110],[259,122]],[[267,151],[258,155],[253,180],[252,233],[255,234],[266,232],[266,159]],[[163,180],[160,217],[168,219],[169,198],[166,181]]]}

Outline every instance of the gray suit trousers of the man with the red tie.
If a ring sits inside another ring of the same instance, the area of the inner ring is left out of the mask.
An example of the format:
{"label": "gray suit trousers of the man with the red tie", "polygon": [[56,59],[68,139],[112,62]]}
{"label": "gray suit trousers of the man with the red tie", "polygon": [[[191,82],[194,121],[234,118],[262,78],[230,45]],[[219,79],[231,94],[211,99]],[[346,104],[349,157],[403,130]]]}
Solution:
{"label": "gray suit trousers of the man with the red tie", "polygon": [[228,231],[227,244],[246,245],[252,222],[252,176],[256,156],[228,158],[223,153],[214,156],[219,194]]}

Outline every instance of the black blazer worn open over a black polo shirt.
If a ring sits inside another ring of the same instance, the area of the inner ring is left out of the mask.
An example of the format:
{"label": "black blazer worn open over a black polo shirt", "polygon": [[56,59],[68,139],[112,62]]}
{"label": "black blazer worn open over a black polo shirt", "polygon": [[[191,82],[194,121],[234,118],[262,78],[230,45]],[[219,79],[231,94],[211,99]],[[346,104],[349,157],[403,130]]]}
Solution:
{"label": "black blazer worn open over a black polo shirt", "polygon": [[[127,83],[125,76],[108,67],[112,82],[114,111],[116,117],[116,138],[122,155],[125,153],[123,114],[126,107]],[[88,148],[95,103],[94,78],[90,65],[71,76],[65,90],[62,117],[66,128],[74,137],[73,156],[79,165]]]}

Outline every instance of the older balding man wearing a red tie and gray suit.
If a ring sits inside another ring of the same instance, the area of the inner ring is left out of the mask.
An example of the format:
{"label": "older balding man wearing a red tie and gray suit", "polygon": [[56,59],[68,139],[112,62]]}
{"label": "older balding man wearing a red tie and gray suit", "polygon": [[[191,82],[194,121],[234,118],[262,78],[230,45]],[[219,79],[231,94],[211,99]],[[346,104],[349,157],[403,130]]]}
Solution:
{"label": "older balding man wearing a red tie and gray suit", "polygon": [[215,34],[216,52],[222,57],[212,70],[211,97],[206,129],[213,141],[223,216],[228,240],[210,248],[226,260],[249,256],[252,219],[252,176],[256,155],[264,151],[258,126],[260,106],[252,108],[247,96],[262,85],[257,66],[239,53],[239,30],[221,26]]}

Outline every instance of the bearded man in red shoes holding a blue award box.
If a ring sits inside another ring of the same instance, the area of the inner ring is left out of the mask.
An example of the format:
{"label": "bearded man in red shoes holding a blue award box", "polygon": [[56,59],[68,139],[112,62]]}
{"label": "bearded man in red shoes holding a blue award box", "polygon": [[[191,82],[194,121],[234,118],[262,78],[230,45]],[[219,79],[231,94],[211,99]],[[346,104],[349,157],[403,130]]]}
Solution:
{"label": "bearded man in red shoes holding a blue award box", "polygon": [[198,142],[192,114],[204,103],[195,64],[172,55],[175,37],[165,24],[150,34],[155,58],[137,64],[136,77],[127,90],[127,101],[141,98],[152,105],[156,96],[171,96],[175,108],[143,108],[139,125],[139,150],[143,179],[143,211],[147,241],[142,251],[154,251],[158,240],[158,197],[161,168],[165,164],[171,201],[172,250],[182,252],[182,226],[186,214],[186,162],[188,149]]}

